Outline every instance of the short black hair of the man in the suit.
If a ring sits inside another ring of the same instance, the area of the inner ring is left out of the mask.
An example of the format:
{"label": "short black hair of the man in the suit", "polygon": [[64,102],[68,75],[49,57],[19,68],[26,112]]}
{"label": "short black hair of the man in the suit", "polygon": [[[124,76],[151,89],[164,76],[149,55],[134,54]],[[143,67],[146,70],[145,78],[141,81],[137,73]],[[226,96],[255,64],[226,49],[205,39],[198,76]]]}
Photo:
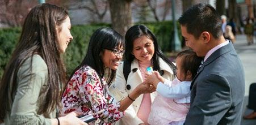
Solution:
{"label": "short black hair of the man in the suit", "polygon": [[204,31],[211,33],[216,39],[223,35],[220,15],[211,5],[203,3],[194,5],[188,8],[178,21],[196,39]]}

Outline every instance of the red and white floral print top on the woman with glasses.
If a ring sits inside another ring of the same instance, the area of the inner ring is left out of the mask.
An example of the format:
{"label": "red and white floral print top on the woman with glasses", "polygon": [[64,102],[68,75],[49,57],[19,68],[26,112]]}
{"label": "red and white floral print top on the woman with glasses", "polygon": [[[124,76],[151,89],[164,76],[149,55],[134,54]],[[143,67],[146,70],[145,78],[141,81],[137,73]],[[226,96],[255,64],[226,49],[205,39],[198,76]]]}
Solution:
{"label": "red and white floral print top on the woman with glasses", "polygon": [[[124,113],[119,111],[120,103],[114,101],[108,95],[106,80],[100,80],[96,71],[90,66],[82,66],[75,71],[62,95],[62,107],[60,115],[77,111],[83,115],[103,113],[94,115],[100,119],[97,124],[111,124],[123,117]],[[89,124],[95,124],[91,122]]]}

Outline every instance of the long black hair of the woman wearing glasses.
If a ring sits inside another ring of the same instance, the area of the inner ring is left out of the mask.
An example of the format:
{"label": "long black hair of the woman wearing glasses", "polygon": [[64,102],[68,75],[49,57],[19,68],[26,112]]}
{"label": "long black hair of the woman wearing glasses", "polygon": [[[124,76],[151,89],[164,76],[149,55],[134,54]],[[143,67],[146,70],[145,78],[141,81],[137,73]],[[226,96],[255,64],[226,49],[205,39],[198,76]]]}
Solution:
{"label": "long black hair of the woman wearing glasses", "polygon": [[[115,49],[124,46],[123,37],[112,28],[99,28],[91,36],[87,54],[82,63],[75,68],[74,72],[80,67],[88,65],[92,67],[100,78],[104,76],[104,63],[102,54],[104,49]],[[111,75],[108,77],[107,83],[110,85],[115,77],[116,71],[111,69]],[[73,74],[72,74],[73,75]]]}

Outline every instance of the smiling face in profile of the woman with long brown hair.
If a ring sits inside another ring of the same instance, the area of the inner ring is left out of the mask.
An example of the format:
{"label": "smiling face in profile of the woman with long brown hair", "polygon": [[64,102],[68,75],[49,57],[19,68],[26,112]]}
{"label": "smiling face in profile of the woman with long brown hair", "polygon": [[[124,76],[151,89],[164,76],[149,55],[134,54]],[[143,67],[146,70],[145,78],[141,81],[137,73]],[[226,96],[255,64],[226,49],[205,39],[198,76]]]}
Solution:
{"label": "smiling face in profile of the woman with long brown hair", "polygon": [[64,22],[57,26],[57,36],[58,44],[60,45],[60,53],[64,53],[66,48],[68,48],[69,42],[73,40],[73,36],[70,33],[71,23],[69,16],[64,20]]}

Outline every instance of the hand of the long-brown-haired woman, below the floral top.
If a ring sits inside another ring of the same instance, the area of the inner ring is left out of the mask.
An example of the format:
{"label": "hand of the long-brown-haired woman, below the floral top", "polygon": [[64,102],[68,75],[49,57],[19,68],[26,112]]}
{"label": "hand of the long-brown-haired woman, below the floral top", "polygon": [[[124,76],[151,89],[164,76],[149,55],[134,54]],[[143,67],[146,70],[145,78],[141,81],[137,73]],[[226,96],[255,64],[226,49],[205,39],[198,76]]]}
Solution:
{"label": "hand of the long-brown-haired woman, below the floral top", "polygon": [[79,125],[87,125],[87,123],[83,122],[79,118],[77,118],[79,114],[75,113],[74,111],[65,115],[65,117],[60,117],[60,124],[79,124]]}

